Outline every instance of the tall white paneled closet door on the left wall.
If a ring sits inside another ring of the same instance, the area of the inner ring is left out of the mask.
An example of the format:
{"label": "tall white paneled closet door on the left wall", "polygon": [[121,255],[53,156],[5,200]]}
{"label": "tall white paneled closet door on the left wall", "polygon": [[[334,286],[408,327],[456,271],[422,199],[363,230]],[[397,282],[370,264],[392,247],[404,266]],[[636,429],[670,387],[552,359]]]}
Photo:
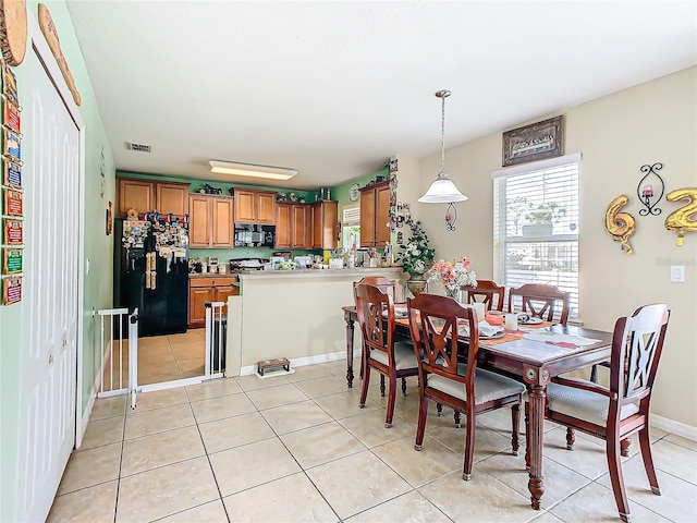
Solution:
{"label": "tall white paneled closet door on the left wall", "polygon": [[[29,47],[30,181],[25,174],[22,521],[44,521],[75,442],[80,133]],[[26,114],[25,112],[25,114]],[[25,165],[27,162],[25,161]],[[25,170],[26,172],[26,170]]]}

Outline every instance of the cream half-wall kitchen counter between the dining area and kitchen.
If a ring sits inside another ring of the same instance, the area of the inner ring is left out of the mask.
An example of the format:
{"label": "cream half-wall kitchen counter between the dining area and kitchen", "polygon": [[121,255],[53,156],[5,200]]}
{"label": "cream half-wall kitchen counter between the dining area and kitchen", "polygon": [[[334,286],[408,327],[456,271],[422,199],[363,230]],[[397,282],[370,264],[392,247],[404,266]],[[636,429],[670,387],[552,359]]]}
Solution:
{"label": "cream half-wall kitchen counter between the dining area and kitchen", "polygon": [[[237,273],[239,296],[228,299],[229,376],[253,374],[256,362],[286,357],[291,366],[346,357],[342,306],[353,303],[353,283],[365,276],[398,280],[401,267],[253,270]],[[356,343],[356,346],[359,346]]]}

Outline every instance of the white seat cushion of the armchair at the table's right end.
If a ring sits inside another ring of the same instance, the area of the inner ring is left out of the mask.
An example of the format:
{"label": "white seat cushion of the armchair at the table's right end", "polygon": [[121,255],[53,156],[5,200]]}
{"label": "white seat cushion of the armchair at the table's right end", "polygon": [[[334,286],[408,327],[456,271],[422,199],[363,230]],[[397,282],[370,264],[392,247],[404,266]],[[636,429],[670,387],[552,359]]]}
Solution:
{"label": "white seat cushion of the armchair at the table's right end", "polygon": [[[549,410],[552,412],[559,412],[602,427],[608,423],[610,398],[606,396],[589,390],[576,389],[575,387],[549,384],[547,386],[547,397],[549,399]],[[639,406],[636,403],[624,405],[620,413],[620,419],[624,419],[637,412],[639,412]]]}

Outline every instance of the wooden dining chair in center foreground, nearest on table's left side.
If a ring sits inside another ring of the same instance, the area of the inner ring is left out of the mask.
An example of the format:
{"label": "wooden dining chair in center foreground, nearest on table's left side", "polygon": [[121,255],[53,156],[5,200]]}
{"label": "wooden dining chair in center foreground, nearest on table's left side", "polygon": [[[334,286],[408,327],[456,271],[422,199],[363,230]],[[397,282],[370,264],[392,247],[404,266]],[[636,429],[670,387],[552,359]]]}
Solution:
{"label": "wooden dining chair in center foreground, nearest on table's left side", "polygon": [[[519,381],[477,368],[479,328],[472,307],[436,294],[419,294],[407,300],[409,331],[418,357],[419,410],[414,449],[421,450],[428,416],[428,402],[450,406],[465,415],[465,459],[462,477],[469,481],[474,461],[475,417],[477,414],[512,405],[511,445],[517,455],[521,399],[525,387]],[[468,329],[467,363],[457,360],[458,332]]]}

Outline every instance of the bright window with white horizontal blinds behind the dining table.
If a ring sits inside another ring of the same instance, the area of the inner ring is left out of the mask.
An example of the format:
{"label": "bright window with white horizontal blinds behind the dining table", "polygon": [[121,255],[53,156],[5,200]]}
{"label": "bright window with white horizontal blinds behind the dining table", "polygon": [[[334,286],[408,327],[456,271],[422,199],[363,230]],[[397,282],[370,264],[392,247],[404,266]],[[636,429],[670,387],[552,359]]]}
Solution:
{"label": "bright window with white horizontal blinds behind the dining table", "polygon": [[578,318],[579,162],[567,155],[492,174],[494,279],[570,292],[570,319]]}

